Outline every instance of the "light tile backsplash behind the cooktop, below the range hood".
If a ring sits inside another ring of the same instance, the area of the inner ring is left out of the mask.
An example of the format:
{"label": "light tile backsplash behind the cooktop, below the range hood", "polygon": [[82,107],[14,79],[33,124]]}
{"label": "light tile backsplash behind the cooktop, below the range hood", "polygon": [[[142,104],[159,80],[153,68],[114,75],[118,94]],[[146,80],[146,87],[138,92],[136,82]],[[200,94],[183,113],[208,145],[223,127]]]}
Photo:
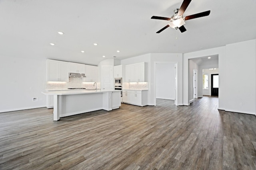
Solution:
{"label": "light tile backsplash behind the cooktop, below the range hood", "polygon": [[[46,90],[60,90],[67,88],[86,88],[94,89],[94,82],[84,82],[83,78],[70,77],[69,82],[46,82]],[[100,82],[97,82],[97,88],[100,88]]]}

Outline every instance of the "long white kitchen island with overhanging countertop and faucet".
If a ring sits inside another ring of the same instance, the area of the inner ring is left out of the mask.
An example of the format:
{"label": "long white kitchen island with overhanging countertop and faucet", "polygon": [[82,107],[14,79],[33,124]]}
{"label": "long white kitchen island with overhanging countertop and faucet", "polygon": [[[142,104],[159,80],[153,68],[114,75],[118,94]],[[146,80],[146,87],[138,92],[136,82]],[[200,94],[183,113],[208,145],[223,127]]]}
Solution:
{"label": "long white kitchen island with overhanging countertop and faucet", "polygon": [[104,109],[110,111],[121,106],[120,90],[59,90],[45,91],[53,95],[53,120],[60,117]]}

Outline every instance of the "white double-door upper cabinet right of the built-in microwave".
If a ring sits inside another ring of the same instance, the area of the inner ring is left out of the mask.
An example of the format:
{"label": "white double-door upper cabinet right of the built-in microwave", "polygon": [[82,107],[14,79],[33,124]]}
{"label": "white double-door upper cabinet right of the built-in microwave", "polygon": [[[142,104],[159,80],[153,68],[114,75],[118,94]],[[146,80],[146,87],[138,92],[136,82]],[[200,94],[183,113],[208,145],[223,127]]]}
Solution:
{"label": "white double-door upper cabinet right of the built-in microwave", "polygon": [[145,82],[145,63],[136,63],[125,66],[126,82]]}

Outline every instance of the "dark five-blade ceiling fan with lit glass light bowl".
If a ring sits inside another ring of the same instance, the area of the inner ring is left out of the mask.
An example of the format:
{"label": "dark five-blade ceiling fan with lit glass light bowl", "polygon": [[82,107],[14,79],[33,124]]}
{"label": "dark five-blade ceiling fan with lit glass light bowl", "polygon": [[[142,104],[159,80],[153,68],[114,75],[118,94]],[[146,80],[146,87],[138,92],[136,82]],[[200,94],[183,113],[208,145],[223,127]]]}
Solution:
{"label": "dark five-blade ceiling fan with lit glass light bowl", "polygon": [[208,16],[210,14],[211,11],[209,10],[209,11],[205,11],[205,12],[200,12],[198,14],[193,14],[193,15],[190,15],[190,16],[183,17],[182,15],[185,12],[185,10],[187,9],[190,2],[191,2],[191,0],[184,0],[182,2],[182,5],[180,6],[180,9],[175,9],[174,10],[174,15],[171,18],[152,16],[151,19],[170,20],[171,21],[170,23],[168,23],[168,25],[166,25],[165,27],[163,27],[162,29],[160,29],[156,33],[160,33],[168,27],[172,27],[174,29],[180,29],[180,32],[183,33],[184,31],[186,31],[186,28],[184,27],[184,24],[185,24],[186,20],[191,20],[191,19],[194,19],[194,18],[204,17],[204,16]]}

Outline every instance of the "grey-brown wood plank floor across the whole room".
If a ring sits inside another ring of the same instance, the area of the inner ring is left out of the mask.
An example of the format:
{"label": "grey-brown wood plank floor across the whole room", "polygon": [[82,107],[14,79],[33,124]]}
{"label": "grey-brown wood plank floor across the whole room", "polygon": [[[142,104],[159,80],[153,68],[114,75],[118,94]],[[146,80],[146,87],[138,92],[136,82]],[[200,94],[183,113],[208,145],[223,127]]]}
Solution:
{"label": "grey-brown wood plank floor across the whole room", "polygon": [[46,108],[0,113],[0,169],[255,170],[256,116],[217,108],[205,96],[60,121]]}

